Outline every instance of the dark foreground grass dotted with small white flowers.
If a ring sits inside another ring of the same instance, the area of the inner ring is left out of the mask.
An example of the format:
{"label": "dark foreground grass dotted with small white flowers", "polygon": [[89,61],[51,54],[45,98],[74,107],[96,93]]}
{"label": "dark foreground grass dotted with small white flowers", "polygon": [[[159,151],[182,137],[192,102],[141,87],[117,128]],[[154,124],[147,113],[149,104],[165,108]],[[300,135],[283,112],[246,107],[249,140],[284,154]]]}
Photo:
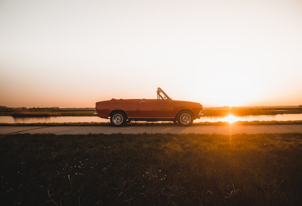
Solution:
{"label": "dark foreground grass dotted with small white flowers", "polygon": [[302,134],[5,135],[2,205],[301,205]]}

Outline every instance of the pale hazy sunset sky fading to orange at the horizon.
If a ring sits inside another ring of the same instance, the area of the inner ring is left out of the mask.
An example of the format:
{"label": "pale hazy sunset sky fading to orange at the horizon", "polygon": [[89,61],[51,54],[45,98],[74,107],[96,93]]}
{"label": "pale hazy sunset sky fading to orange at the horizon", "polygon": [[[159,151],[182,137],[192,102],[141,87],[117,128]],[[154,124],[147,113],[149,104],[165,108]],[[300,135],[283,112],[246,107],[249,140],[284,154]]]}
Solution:
{"label": "pale hazy sunset sky fading to orange at the horizon", "polygon": [[0,105],[302,104],[301,0],[0,0]]}

